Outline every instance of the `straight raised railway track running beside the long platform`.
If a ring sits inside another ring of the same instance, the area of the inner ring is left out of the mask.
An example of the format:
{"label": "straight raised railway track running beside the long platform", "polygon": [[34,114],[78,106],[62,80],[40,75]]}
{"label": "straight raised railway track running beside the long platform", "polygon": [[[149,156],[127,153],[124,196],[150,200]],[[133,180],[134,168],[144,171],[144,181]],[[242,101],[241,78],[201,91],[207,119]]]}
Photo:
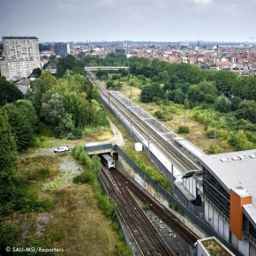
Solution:
{"label": "straight raised railway track running beside the long platform", "polygon": [[[96,84],[101,91],[102,99],[105,103],[112,104],[114,109],[118,109],[119,113],[124,116],[126,120],[132,120],[132,125],[135,127],[145,138],[149,138],[157,143],[157,147],[166,154],[166,156],[174,163],[175,166],[182,172],[185,173],[188,170],[200,169],[196,162],[192,162],[184,153],[182,153],[171,141],[167,141],[162,137],[160,132],[156,132],[150,124],[143,122],[143,120],[136,114],[133,113],[131,108],[127,108],[123,102],[118,101],[114,95],[110,94],[109,91],[102,85],[102,83],[96,79],[92,72],[88,72],[89,78],[94,84]],[[133,107],[136,105],[133,105]],[[131,106],[132,107],[132,106]]]}

